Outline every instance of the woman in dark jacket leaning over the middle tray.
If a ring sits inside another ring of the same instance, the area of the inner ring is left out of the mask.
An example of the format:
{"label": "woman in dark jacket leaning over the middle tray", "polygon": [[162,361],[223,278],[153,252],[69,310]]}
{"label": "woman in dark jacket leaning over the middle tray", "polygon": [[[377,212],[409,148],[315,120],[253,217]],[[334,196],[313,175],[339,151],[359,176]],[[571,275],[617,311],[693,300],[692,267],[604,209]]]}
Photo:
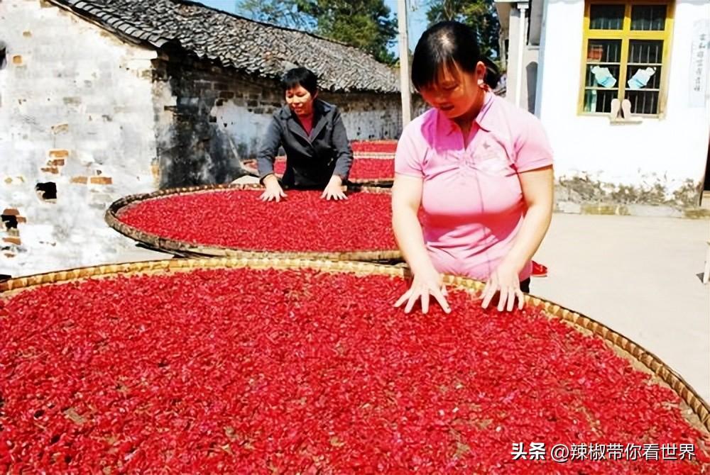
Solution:
{"label": "woman in dark jacket leaning over the middle tray", "polygon": [[317,79],[309,69],[290,69],[281,80],[286,106],[273,114],[257,157],[263,201],[286,194],[273,173],[278,148],[286,152],[285,188],[323,189],[324,199],[346,199],[342,184],[353,154],[338,108],[317,99]]}

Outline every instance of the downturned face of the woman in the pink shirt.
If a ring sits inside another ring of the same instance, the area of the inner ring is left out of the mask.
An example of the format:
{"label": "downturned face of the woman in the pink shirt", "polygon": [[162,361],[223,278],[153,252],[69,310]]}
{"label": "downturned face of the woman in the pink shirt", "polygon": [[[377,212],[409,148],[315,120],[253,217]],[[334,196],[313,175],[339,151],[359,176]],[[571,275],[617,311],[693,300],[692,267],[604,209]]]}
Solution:
{"label": "downturned face of the woman in the pink shirt", "polygon": [[479,84],[486,74],[486,65],[479,61],[475,72],[465,72],[458,65],[439,71],[437,81],[422,87],[422,99],[442,111],[448,118],[466,116],[481,104],[484,89]]}

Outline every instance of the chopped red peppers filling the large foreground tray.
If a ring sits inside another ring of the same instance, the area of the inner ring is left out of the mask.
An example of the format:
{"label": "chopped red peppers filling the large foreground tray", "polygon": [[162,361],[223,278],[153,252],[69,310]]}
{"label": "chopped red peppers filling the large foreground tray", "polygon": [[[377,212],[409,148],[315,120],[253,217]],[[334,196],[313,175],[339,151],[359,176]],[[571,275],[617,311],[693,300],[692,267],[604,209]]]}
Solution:
{"label": "chopped red peppers filling the large foreground tray", "polygon": [[[701,474],[678,396],[534,308],[393,308],[401,279],[197,270],[1,301],[0,473]],[[513,442],[696,459],[513,461]]]}

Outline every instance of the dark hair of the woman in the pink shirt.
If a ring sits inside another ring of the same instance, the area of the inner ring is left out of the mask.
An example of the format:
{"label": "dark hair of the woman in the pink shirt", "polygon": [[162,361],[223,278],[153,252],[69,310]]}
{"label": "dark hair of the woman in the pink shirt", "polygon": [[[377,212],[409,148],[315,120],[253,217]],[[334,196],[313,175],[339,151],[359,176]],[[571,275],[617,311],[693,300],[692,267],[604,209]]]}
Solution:
{"label": "dark hair of the woman in the pink shirt", "polygon": [[501,80],[496,63],[481,55],[476,32],[458,21],[442,21],[422,34],[414,50],[412,82],[418,89],[437,82],[439,71],[454,64],[464,72],[475,72],[476,64],[486,65],[484,82],[495,89]]}

